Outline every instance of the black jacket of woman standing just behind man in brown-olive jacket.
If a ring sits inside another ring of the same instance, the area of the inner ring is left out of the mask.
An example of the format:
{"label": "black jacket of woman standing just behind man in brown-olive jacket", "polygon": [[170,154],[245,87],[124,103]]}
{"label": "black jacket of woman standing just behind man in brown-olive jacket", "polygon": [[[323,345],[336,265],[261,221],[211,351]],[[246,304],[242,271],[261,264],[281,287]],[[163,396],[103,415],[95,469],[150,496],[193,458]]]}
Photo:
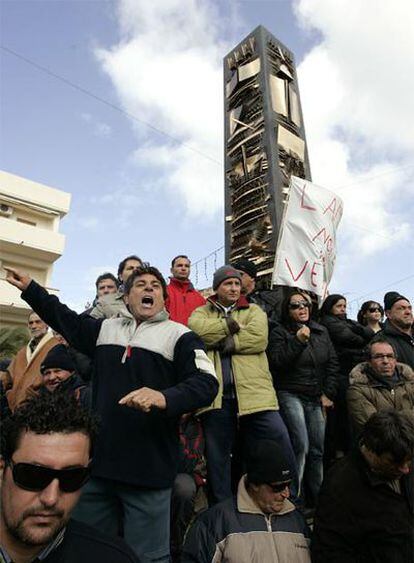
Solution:
{"label": "black jacket of woman standing just behind man in brown-olive jacket", "polygon": [[375,335],[374,331],[351,319],[329,314],[324,315],[320,323],[328,329],[338,355],[341,374],[348,378],[351,369],[364,361],[364,348]]}

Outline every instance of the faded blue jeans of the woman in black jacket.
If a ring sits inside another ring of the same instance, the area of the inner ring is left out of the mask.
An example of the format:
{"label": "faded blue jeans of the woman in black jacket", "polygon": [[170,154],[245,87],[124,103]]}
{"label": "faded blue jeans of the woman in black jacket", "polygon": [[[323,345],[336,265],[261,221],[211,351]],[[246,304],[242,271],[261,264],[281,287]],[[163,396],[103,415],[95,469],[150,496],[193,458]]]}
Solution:
{"label": "faded blue jeans of the woman in black jacket", "polygon": [[287,391],[278,391],[280,413],[289,430],[299,476],[299,494],[306,490],[313,504],[323,480],[323,448],[325,417],[317,399],[299,397]]}

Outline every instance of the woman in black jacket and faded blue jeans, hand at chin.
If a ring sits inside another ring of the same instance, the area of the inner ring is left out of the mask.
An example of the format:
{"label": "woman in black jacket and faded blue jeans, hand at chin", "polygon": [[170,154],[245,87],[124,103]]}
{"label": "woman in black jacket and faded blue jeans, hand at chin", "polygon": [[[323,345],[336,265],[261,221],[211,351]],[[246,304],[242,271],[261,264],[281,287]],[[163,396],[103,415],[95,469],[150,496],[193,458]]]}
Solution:
{"label": "woman in black jacket and faded blue jeans, hand at chin", "polygon": [[333,407],[339,364],[328,331],[310,318],[308,295],[290,289],[280,323],[271,330],[269,364],[280,413],[296,455],[300,496],[315,505],[323,479],[325,411]]}

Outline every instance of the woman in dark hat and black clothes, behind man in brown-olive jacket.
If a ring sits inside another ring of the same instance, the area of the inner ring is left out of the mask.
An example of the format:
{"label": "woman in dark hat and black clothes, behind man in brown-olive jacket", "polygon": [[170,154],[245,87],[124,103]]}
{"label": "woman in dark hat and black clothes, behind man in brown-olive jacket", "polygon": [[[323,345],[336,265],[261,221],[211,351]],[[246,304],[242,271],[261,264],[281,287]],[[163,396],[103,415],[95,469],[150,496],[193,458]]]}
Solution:
{"label": "woman in dark hat and black clothes, behind man in brown-olive jacket", "polygon": [[325,299],[320,310],[320,323],[328,329],[340,365],[335,409],[328,420],[327,461],[342,456],[350,448],[351,431],[346,404],[349,373],[364,361],[364,348],[375,334],[369,326],[348,319],[346,306],[343,295],[332,294]]}

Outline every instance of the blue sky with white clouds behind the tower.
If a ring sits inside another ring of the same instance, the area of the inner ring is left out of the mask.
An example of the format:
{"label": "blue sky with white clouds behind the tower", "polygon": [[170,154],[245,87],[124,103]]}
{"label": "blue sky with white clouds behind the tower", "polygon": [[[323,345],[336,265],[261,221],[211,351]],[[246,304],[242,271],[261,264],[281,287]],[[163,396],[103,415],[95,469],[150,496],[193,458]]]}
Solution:
{"label": "blue sky with white clouds behind the tower", "polygon": [[64,301],[81,310],[132,253],[164,274],[188,254],[209,285],[223,261],[222,59],[259,24],[295,54],[312,179],[345,202],[331,292],[354,314],[390,289],[414,298],[410,0],[0,6],[0,166],[72,194],[52,284]]}

